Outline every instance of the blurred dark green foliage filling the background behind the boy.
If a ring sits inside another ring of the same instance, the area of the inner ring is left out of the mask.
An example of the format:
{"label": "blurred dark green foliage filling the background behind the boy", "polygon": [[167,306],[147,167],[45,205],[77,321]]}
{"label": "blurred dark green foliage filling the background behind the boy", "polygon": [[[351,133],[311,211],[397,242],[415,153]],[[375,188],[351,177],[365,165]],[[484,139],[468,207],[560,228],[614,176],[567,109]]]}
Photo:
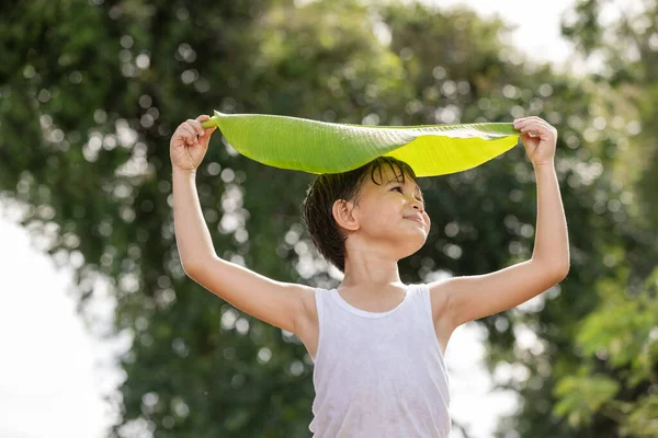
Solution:
{"label": "blurred dark green foliage filling the background behind the boy", "polygon": [[[0,14],[0,194],[76,267],[99,276],[134,337],[111,402],[156,437],[305,437],[313,364],[292,334],[186,278],[172,222],[170,135],[214,108],[353,124],[509,122],[559,131],[571,270],[486,327],[487,361],[518,412],[498,437],[658,436],[658,2],[563,31],[597,73],[501,43],[503,23],[397,1],[33,0]],[[313,175],[238,155],[219,134],[197,186],[217,254],[282,281],[336,287],[299,205]],[[422,178],[433,227],[405,283],[530,257],[536,186],[523,148]],[[515,339],[532,335],[531,347]],[[477,413],[474,412],[474,415]]]}

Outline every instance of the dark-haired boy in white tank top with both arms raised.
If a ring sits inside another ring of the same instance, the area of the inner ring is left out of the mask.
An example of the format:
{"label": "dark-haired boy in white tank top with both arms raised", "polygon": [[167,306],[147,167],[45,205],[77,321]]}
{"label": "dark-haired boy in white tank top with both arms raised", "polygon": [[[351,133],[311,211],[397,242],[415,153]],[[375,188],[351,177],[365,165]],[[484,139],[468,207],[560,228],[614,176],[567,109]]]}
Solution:
{"label": "dark-haired boy in white tank top with both arms raised", "polygon": [[275,281],[217,257],[194,175],[215,128],[188,119],[170,142],[175,235],[185,273],[236,308],[294,333],[314,360],[317,437],[440,437],[450,434],[443,354],[453,331],[512,309],[564,279],[567,224],[554,166],[557,131],[538,117],[514,120],[537,182],[531,260],[486,275],[404,285],[397,262],[430,230],[413,170],[379,157],[319,175],[303,217],[318,251],[343,274],[337,289]]}

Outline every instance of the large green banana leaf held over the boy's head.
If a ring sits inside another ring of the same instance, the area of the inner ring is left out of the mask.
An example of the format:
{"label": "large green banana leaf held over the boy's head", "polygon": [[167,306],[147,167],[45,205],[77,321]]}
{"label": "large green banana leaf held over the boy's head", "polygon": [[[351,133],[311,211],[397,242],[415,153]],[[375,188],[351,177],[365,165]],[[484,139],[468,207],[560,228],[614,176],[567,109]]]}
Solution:
{"label": "large green banana leaf held over the boy's head", "polygon": [[202,125],[217,126],[239,153],[274,168],[340,173],[387,155],[418,177],[473,169],[512,149],[520,135],[511,123],[365,126],[217,111]]}

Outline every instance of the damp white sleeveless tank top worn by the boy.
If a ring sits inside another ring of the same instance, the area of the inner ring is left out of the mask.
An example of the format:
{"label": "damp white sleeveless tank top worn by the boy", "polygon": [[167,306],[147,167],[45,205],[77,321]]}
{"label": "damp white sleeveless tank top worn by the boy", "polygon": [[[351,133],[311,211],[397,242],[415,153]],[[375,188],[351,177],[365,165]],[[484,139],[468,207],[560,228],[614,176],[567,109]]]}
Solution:
{"label": "damp white sleeveless tank top worn by the boy", "polygon": [[316,438],[447,438],[447,369],[427,285],[406,286],[387,312],[315,290],[319,339],[313,371]]}

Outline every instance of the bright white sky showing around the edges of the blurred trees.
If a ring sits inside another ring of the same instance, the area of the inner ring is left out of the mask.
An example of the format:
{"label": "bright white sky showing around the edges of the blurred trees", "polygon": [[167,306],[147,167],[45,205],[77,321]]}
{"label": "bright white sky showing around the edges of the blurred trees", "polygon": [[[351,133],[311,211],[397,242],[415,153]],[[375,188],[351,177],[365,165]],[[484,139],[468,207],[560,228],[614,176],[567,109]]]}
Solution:
{"label": "bright white sky showing around the edges of the blurred trees", "polygon": [[[559,19],[571,2],[434,0],[442,5],[467,4],[484,15],[500,14],[518,26],[513,44],[537,61],[558,65],[569,58],[569,45],[559,35]],[[101,343],[86,331],[75,300],[67,295],[70,270],[57,272],[54,262],[33,249],[27,233],[14,224],[15,215],[3,218],[8,214],[8,206],[0,204],[0,342],[4,345],[0,436],[101,438],[115,415],[101,394],[121,379],[109,364],[126,343]],[[113,309],[102,289],[99,284],[105,298],[94,304],[100,328],[111,321]],[[481,366],[481,330],[475,323],[466,324],[453,334],[446,351],[451,414],[473,438],[492,436],[498,416],[514,406],[511,395],[490,392],[492,381]],[[453,428],[451,438],[463,435]]]}

